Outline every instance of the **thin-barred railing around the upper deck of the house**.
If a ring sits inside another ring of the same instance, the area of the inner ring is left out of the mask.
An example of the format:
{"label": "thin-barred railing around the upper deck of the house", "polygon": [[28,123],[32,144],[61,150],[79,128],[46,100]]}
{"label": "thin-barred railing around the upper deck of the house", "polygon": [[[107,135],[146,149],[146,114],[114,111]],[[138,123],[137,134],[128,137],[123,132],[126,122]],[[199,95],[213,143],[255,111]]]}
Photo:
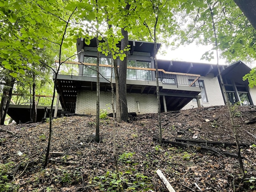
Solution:
{"label": "thin-barred railing around the upper deck of the house", "polygon": [[[110,78],[111,66],[110,65],[99,65],[100,75],[104,78]],[[114,69],[113,77],[114,77]],[[96,77],[96,64],[92,63],[79,63],[79,62],[65,62],[60,67],[59,74],[71,75],[71,76],[89,76]],[[159,81],[165,84],[175,84],[177,86],[196,86],[199,87],[200,75],[198,74],[187,74],[178,72],[166,72],[163,69],[158,69]],[[138,67],[127,67],[127,79],[129,80],[144,80],[144,81],[155,81],[156,80],[156,69],[154,68],[138,68]]]}

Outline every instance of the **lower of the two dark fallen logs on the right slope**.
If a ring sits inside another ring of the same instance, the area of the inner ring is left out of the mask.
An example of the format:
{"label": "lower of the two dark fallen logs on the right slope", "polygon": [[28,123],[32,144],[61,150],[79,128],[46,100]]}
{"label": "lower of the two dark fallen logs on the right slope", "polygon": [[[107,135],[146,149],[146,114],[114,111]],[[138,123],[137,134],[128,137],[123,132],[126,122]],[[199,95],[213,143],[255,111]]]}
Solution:
{"label": "lower of the two dark fallen logs on the right slope", "polygon": [[[159,139],[157,137],[153,137],[153,140],[159,141]],[[180,146],[180,147],[192,146],[192,147],[195,147],[197,150],[202,150],[202,151],[212,152],[213,154],[219,154],[219,155],[224,155],[224,156],[228,156],[228,157],[238,158],[237,154],[229,153],[229,152],[220,150],[218,148],[205,147],[205,146],[201,146],[201,145],[188,144],[188,143],[182,143],[182,142],[175,142],[175,141],[170,141],[170,140],[167,140],[164,138],[162,139],[162,142],[167,143],[167,144],[172,144],[174,146]],[[242,158],[244,158],[244,157],[242,157]]]}

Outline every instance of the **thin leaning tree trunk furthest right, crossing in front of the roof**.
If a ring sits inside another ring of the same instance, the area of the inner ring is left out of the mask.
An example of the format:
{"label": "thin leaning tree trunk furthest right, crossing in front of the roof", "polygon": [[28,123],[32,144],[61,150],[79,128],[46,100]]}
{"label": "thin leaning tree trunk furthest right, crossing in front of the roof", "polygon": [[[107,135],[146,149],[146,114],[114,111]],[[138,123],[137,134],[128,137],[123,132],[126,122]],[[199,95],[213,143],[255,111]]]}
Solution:
{"label": "thin leaning tree trunk furthest right, crossing in front of the roof", "polygon": [[217,42],[217,34],[216,34],[216,29],[215,29],[214,17],[213,17],[213,13],[212,13],[212,7],[210,6],[210,4],[208,4],[208,6],[209,6],[211,17],[212,17],[212,28],[213,28],[213,31],[214,31],[216,56],[217,56],[217,67],[218,67],[218,73],[219,73],[219,76],[220,76],[220,84],[221,84],[221,88],[222,88],[222,91],[223,91],[224,100],[226,101],[226,106],[228,108],[228,112],[229,112],[229,116],[230,116],[230,124],[231,124],[232,129],[233,129],[234,137],[236,139],[236,148],[237,148],[236,150],[237,150],[237,154],[238,154],[238,160],[239,160],[239,163],[240,163],[241,174],[242,174],[242,177],[244,177],[245,176],[244,166],[243,166],[243,162],[242,162],[242,157],[241,157],[241,152],[240,152],[240,144],[239,144],[239,141],[238,141],[236,126],[235,126],[235,123],[234,123],[233,114],[232,114],[232,111],[231,111],[231,108],[230,108],[230,103],[229,103],[229,100],[228,100],[228,94],[226,92],[226,88],[225,88],[225,85],[224,85],[224,82],[223,82],[223,78],[222,78],[222,74],[221,74],[221,70],[220,70],[220,66],[219,66],[218,42]]}

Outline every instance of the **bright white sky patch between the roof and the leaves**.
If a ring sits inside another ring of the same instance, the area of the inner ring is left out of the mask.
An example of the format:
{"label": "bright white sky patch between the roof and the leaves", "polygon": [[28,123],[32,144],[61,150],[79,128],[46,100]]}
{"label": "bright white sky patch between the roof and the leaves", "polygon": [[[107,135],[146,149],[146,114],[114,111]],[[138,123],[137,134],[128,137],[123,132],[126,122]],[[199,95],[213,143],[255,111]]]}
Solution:
{"label": "bright white sky patch between the roof and the leaves", "polygon": [[[168,49],[166,50],[166,55],[158,54],[158,59],[164,59],[164,60],[176,60],[176,61],[187,61],[187,62],[199,62],[199,63],[210,63],[210,64],[216,64],[216,54],[214,55],[214,59],[212,59],[210,62],[207,60],[200,60],[202,55],[208,51],[211,50],[211,46],[197,46],[195,43],[186,45],[186,46],[180,46],[176,50]],[[224,59],[219,60],[220,65],[226,65],[226,62]],[[245,63],[246,64],[246,63]],[[256,67],[256,62],[252,64],[252,67]]]}

